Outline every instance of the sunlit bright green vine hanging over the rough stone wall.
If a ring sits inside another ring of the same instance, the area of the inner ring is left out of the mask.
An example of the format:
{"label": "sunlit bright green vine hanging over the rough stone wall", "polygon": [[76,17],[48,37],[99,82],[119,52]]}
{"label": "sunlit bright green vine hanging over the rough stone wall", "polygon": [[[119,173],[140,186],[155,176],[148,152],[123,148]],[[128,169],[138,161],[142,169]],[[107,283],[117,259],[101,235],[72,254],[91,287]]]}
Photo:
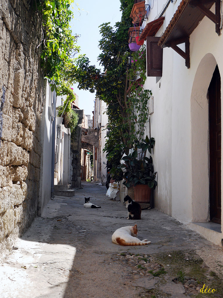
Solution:
{"label": "sunlit bright green vine hanging over the rough stone wall", "polygon": [[70,21],[73,13],[72,0],[39,0],[37,7],[42,13],[43,36],[41,67],[51,83],[51,90],[67,81],[65,69],[69,69],[72,58],[79,51],[78,35],[72,35]]}

